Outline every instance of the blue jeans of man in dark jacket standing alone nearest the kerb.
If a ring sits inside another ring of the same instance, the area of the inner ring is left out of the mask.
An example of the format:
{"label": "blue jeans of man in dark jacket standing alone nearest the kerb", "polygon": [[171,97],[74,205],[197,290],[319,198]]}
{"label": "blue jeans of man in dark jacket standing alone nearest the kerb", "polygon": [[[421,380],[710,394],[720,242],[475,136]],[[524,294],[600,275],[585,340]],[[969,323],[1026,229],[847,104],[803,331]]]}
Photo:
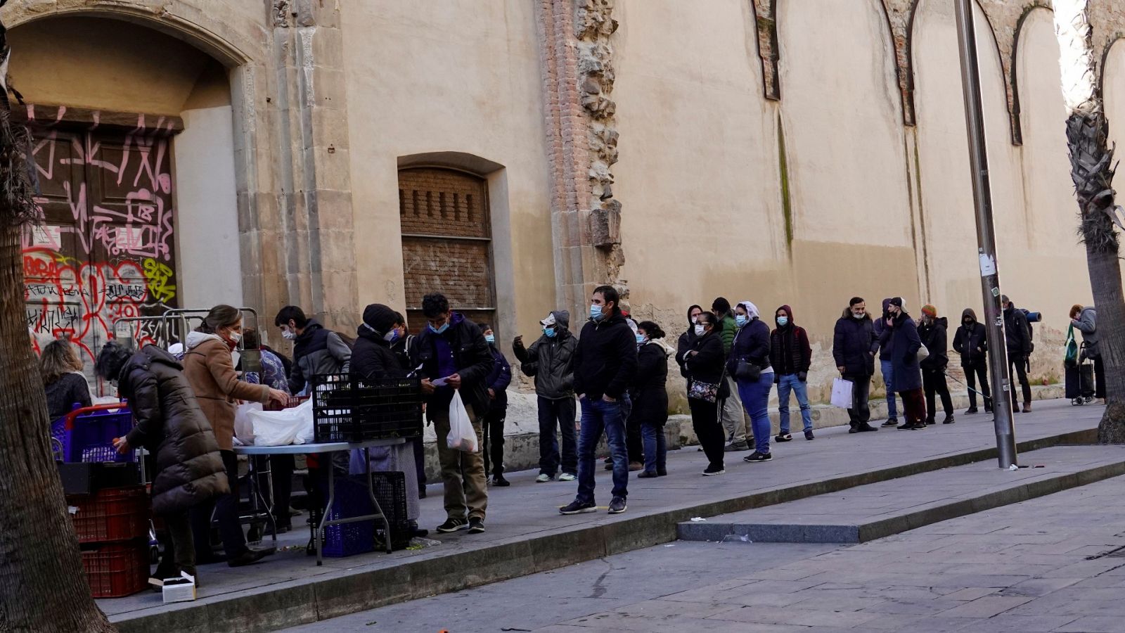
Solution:
{"label": "blue jeans of man in dark jacket standing alone nearest the kerb", "polygon": [[582,400],[582,431],[578,434],[578,496],[583,503],[594,502],[594,473],[596,472],[597,440],[602,431],[613,456],[613,496],[629,494],[629,451],[626,448],[624,403],[604,400]]}

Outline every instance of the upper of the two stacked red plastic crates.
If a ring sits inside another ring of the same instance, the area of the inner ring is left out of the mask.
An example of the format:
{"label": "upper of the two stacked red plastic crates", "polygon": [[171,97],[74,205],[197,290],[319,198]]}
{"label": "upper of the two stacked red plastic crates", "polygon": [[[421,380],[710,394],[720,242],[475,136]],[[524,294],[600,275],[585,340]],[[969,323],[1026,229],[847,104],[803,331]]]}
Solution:
{"label": "upper of the two stacked red plastic crates", "polygon": [[93,494],[66,497],[79,543],[106,543],[148,537],[148,491],[144,485],[105,488]]}

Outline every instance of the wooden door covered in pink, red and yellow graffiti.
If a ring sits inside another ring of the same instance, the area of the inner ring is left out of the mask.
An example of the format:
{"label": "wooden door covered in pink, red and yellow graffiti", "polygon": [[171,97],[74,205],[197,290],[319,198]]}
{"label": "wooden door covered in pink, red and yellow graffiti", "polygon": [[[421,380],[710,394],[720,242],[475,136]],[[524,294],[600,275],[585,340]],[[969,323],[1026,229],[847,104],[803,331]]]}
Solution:
{"label": "wooden door covered in pink, red and yellow graffiti", "polygon": [[24,235],[24,296],[29,330],[69,338],[89,367],[115,336],[156,342],[155,321],[120,320],[177,304],[171,157],[163,122],[68,127],[64,110],[28,113],[40,224]]}

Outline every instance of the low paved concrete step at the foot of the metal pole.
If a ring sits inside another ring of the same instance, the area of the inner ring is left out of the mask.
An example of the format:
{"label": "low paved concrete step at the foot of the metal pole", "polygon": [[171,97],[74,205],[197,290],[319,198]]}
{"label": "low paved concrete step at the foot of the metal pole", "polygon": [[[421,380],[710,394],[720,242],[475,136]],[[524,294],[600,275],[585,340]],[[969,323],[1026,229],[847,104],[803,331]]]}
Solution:
{"label": "low paved concrete step at the foot of the metal pole", "polygon": [[978,462],[687,520],[676,533],[684,541],[863,543],[1125,474],[1125,446],[1054,446],[1019,461],[1035,467]]}

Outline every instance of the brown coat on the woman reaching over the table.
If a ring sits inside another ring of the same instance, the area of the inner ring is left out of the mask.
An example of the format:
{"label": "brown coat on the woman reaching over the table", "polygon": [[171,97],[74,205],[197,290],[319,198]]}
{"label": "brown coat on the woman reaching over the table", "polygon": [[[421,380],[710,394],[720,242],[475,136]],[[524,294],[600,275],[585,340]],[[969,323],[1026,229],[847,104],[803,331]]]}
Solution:
{"label": "brown coat on the woman reaching over the table", "polygon": [[[194,336],[198,333],[192,332]],[[189,346],[191,344],[189,337]],[[183,355],[183,375],[196,392],[199,408],[215,429],[219,451],[234,447],[234,410],[236,400],[266,403],[270,387],[238,380],[231,349],[218,337],[207,337]]]}

